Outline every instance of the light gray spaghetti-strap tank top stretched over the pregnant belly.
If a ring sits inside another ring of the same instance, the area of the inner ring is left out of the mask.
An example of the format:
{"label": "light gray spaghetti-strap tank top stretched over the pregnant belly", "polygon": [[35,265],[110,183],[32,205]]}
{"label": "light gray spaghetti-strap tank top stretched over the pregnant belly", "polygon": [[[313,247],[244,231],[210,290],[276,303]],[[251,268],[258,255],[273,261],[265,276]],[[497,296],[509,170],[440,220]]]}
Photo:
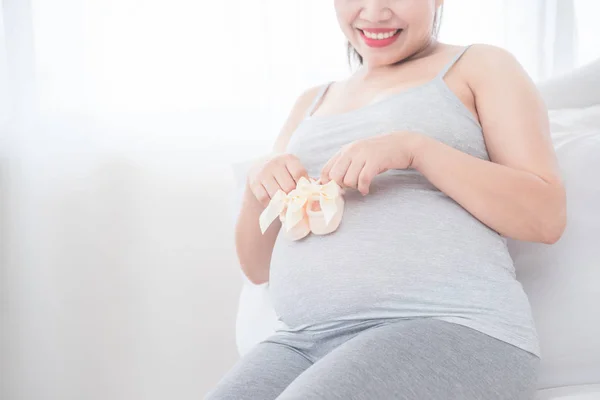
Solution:
{"label": "light gray spaghetti-strap tank top stretched over the pregnant belly", "polygon": [[[312,116],[288,151],[312,177],[342,146],[413,131],[489,160],[481,126],[446,85],[459,54],[423,85],[342,114]],[[436,318],[540,355],[528,298],[506,240],[414,170],[377,176],[370,193],[347,190],[342,223],[290,241],[271,259],[269,292],[279,332],[323,331],[387,318]]]}

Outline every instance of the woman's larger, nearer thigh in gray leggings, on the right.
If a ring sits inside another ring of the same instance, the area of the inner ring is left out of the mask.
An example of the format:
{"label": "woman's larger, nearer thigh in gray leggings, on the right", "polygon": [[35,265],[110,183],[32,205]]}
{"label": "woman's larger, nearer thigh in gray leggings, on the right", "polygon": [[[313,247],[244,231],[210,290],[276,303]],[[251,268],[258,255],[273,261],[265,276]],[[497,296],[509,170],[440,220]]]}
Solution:
{"label": "woman's larger, nearer thigh in gray leggings, on the right", "polygon": [[539,358],[473,329],[423,319],[356,335],[296,378],[278,400],[525,400]]}

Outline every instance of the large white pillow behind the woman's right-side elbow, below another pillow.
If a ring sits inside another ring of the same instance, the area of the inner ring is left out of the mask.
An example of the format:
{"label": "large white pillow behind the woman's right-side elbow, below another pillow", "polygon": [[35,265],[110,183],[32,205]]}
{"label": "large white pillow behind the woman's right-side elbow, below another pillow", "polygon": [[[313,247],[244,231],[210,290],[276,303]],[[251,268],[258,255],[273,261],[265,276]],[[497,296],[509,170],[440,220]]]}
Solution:
{"label": "large white pillow behind the woman's right-side elbow, below another pillow", "polygon": [[567,228],[552,246],[509,249],[540,337],[539,387],[600,384],[600,106],[549,115]]}

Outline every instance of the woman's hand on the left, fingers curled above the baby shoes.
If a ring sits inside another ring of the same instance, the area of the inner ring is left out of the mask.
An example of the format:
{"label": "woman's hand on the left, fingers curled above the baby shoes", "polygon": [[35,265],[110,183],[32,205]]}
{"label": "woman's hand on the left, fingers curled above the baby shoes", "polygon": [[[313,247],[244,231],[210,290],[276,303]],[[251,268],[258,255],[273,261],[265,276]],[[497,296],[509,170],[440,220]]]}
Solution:
{"label": "woman's hand on the left, fingers curled above the baby shoes", "polygon": [[248,187],[266,207],[278,190],[286,194],[291,192],[302,177],[308,177],[308,174],[298,157],[289,153],[275,154],[250,169]]}

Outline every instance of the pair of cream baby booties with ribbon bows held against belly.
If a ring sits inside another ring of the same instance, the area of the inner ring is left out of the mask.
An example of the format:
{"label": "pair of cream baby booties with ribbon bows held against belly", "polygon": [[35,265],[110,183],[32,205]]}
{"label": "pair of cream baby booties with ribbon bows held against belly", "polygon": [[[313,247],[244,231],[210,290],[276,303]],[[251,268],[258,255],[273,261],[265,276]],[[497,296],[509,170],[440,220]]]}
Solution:
{"label": "pair of cream baby booties with ribbon bows held against belly", "polygon": [[327,235],[334,232],[342,221],[344,198],[342,188],[330,181],[325,185],[310,178],[300,178],[296,189],[286,194],[277,191],[259,217],[264,234],[277,217],[284,235],[300,240],[309,233]]}

